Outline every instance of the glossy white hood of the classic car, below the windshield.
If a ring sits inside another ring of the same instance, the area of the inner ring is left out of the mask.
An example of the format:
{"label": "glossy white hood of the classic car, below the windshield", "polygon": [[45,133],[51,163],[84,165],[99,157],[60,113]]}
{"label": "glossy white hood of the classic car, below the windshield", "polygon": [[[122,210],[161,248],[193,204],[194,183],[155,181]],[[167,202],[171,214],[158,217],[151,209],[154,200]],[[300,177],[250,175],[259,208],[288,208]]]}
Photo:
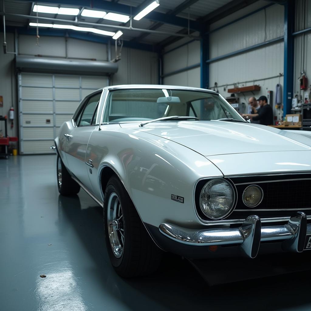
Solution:
{"label": "glossy white hood of the classic car, below the windshield", "polygon": [[143,127],[137,123],[123,123],[120,126],[177,142],[203,156],[311,150],[311,137],[251,123],[165,121],[148,123]]}

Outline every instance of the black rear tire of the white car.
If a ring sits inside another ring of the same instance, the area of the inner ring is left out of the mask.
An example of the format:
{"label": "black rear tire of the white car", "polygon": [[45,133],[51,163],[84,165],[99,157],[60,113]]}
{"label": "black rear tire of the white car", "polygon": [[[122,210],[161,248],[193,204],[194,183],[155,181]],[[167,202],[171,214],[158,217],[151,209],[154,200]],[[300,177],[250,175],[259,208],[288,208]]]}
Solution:
{"label": "black rear tire of the white car", "polygon": [[[60,169],[60,171],[58,171],[58,168]],[[61,173],[61,182],[59,173]],[[79,184],[71,178],[59,155],[57,155],[56,161],[56,176],[58,192],[61,195],[71,196],[77,194],[80,191]]]}

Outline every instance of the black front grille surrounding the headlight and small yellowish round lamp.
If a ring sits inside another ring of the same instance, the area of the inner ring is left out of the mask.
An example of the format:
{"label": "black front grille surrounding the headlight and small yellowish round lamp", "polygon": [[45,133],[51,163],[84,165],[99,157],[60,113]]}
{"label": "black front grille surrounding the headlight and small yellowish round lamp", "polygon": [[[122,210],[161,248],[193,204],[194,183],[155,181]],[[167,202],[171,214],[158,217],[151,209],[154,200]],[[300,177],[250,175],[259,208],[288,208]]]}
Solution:
{"label": "black front grille surrounding the headlight and small yellowish round lamp", "polygon": [[[202,219],[213,221],[202,213],[198,202],[206,182],[202,180],[197,184],[196,207]],[[261,219],[290,217],[295,211],[311,215],[311,173],[234,177],[230,178],[230,182],[237,189],[236,207],[224,220],[245,219],[249,215],[257,215]],[[247,207],[242,201],[243,191],[252,184],[260,186],[263,191],[262,202],[253,208]]]}

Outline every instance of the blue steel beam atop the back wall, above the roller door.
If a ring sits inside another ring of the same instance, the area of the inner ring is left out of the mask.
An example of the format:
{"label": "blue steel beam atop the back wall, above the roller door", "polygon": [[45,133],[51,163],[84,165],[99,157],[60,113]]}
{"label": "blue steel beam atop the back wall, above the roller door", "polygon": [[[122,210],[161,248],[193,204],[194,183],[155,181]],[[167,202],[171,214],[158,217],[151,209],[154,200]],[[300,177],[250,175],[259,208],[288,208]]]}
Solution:
{"label": "blue steel beam atop the back wall, above the roller door", "polygon": [[[24,28],[24,27],[12,27],[7,26],[6,31],[7,32],[14,32],[15,29],[17,30],[18,34],[21,35],[36,35],[36,29],[35,28]],[[68,34],[69,38],[74,39],[81,39],[85,41],[91,41],[91,42],[97,42],[97,43],[103,43],[107,44],[109,40],[111,40],[111,44],[114,44],[114,40],[110,37],[104,37],[104,36],[97,36],[97,35],[91,35],[87,33],[82,33],[74,30],[62,30],[62,29],[39,29],[39,35],[43,36],[52,36],[52,37],[66,37]],[[149,51],[149,52],[159,52],[160,49],[156,46],[153,46],[151,44],[144,44],[144,43],[133,43],[130,41],[123,41],[123,46],[131,49],[138,49],[143,51]]]}

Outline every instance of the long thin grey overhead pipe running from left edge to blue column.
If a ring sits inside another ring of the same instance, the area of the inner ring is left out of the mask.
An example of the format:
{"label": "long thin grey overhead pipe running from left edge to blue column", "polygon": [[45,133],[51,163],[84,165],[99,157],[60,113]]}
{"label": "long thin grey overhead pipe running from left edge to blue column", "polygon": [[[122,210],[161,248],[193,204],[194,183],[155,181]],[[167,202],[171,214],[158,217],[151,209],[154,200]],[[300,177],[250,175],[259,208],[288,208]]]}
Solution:
{"label": "long thin grey overhead pipe running from left edge to blue column", "polygon": [[96,24],[96,23],[89,23],[85,21],[68,21],[68,20],[63,20],[63,19],[58,19],[58,18],[52,18],[52,17],[42,17],[42,16],[33,16],[33,15],[25,15],[25,14],[15,14],[15,13],[4,13],[0,12],[0,15],[7,15],[7,16],[16,16],[16,17],[22,17],[22,18],[27,18],[27,19],[38,19],[42,21],[53,21],[53,22],[61,22],[61,23],[66,23],[68,25],[74,25],[74,26],[79,26],[79,25],[86,25],[86,26],[100,26],[100,27],[107,27],[107,28],[117,28],[117,29],[124,29],[124,30],[135,30],[135,31],[142,31],[142,32],[149,32],[151,34],[162,34],[162,35],[172,35],[175,37],[189,37],[189,38],[194,38],[194,39],[201,39],[199,36],[193,36],[193,35],[185,35],[185,34],[179,34],[179,33],[171,33],[171,32],[166,32],[166,31],[158,31],[158,30],[150,30],[150,29],[142,29],[142,28],[134,28],[132,26],[126,27],[126,26],[114,26],[114,25],[107,25],[107,24]]}

